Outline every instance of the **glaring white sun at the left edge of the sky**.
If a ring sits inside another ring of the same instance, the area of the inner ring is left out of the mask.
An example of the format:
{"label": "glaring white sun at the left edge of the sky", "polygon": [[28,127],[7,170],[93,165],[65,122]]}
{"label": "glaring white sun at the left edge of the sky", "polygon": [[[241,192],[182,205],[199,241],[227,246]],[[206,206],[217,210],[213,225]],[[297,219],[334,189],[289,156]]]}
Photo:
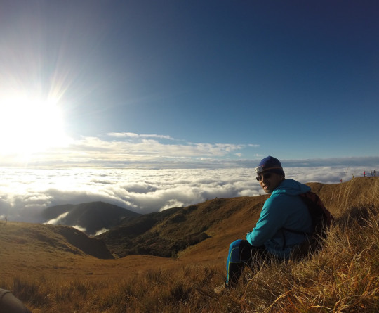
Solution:
{"label": "glaring white sun at the left edge of the sky", "polygon": [[1,154],[26,158],[67,140],[58,101],[30,95],[0,98]]}

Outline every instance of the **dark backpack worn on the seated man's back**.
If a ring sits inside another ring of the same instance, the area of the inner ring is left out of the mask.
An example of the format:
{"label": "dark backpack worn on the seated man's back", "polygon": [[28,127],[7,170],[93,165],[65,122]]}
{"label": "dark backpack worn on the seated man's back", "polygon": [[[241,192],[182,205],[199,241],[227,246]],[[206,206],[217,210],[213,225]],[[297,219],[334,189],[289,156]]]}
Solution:
{"label": "dark backpack worn on the seated man's back", "polygon": [[284,231],[289,231],[295,234],[303,234],[307,236],[307,241],[300,245],[293,255],[297,256],[303,255],[304,253],[315,252],[321,248],[323,238],[326,238],[326,233],[328,228],[331,226],[334,217],[331,215],[331,212],[326,209],[324,204],[321,202],[319,196],[312,191],[306,193],[301,193],[300,198],[307,205],[308,212],[310,212],[310,217],[312,219],[312,233],[307,233],[305,231],[296,231],[293,229],[282,228],[282,233],[284,236],[284,245],[286,245],[286,236]]}

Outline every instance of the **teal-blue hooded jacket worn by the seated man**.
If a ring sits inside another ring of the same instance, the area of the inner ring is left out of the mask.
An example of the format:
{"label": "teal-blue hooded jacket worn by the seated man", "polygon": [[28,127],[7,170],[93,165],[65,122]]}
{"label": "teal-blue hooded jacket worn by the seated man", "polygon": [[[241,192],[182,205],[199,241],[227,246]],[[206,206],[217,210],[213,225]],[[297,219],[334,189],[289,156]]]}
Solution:
{"label": "teal-blue hooded jacket worn by the seated man", "polygon": [[309,186],[293,179],[281,181],[263,205],[260,218],[253,231],[246,234],[246,240],[251,245],[265,245],[272,255],[287,259],[292,248],[307,240],[307,236],[283,228],[312,233],[310,213],[298,196],[307,191],[310,191]]}

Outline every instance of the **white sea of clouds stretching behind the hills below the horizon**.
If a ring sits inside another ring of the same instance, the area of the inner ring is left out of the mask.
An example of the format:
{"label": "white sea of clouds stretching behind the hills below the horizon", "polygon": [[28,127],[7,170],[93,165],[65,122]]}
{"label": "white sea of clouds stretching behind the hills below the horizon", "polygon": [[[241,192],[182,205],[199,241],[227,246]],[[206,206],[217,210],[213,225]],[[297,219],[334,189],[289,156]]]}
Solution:
{"label": "white sea of clouds stretching behind the hills below the horizon", "polygon": [[[370,175],[367,167],[285,167],[302,183],[338,184]],[[91,201],[112,203],[138,213],[186,207],[212,198],[258,196],[253,168],[223,169],[11,169],[0,168],[0,219],[45,222],[41,211],[53,205]]]}

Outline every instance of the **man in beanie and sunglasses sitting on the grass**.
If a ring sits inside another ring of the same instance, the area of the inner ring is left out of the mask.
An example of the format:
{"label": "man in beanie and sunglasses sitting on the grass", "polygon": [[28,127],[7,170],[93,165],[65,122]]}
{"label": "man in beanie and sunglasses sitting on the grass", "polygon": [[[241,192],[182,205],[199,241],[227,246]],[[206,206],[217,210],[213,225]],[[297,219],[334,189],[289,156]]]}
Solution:
{"label": "man in beanie and sunglasses sitting on the grass", "polygon": [[246,239],[230,244],[227,277],[215,293],[236,286],[246,264],[259,268],[264,260],[288,260],[293,249],[307,241],[307,234],[312,234],[312,218],[298,196],[310,191],[310,187],[286,179],[281,162],[272,156],[261,160],[255,172],[260,186],[271,196],[253,231],[246,234]]}

